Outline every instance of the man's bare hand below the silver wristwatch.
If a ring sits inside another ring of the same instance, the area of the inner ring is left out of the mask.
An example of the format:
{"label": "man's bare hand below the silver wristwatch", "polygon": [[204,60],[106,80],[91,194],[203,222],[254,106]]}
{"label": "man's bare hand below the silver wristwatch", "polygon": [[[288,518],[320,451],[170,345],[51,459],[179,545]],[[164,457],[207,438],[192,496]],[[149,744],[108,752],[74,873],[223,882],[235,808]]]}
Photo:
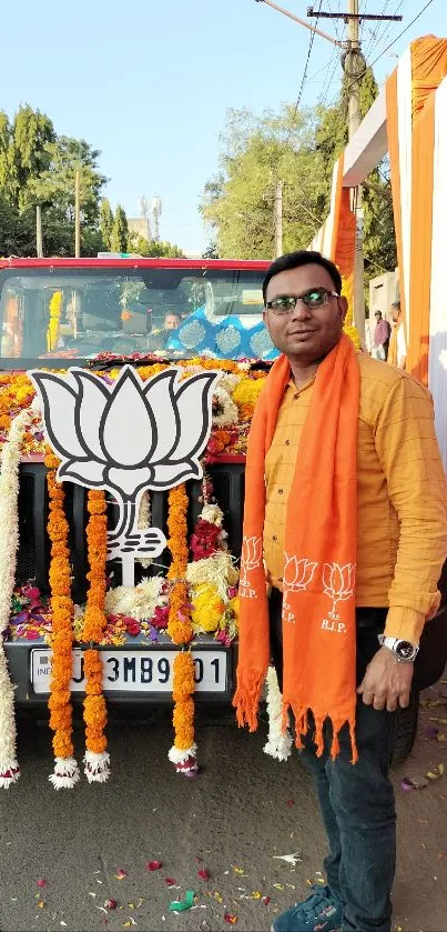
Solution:
{"label": "man's bare hand below the silver wristwatch", "polygon": [[404,663],[388,648],[380,648],[368,663],[357,692],[363,695],[365,705],[387,709],[388,712],[394,712],[397,705],[406,709],[409,704],[413,670],[413,663]]}

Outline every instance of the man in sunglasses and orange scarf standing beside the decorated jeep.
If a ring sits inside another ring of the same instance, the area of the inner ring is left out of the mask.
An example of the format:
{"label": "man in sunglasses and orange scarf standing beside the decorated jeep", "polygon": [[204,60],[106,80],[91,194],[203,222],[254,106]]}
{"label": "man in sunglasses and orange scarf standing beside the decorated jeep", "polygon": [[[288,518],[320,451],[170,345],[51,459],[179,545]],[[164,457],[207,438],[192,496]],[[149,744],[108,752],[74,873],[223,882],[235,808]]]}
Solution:
{"label": "man in sunglasses and orange scarf standing beside the decorated jeep", "polygon": [[248,440],[234,704],[254,730],[273,655],[329,844],[327,884],[274,932],[390,930],[393,712],[447,552],[430,395],[355,353],[341,291],[318,252],[281,257],[264,280],[282,355]]}

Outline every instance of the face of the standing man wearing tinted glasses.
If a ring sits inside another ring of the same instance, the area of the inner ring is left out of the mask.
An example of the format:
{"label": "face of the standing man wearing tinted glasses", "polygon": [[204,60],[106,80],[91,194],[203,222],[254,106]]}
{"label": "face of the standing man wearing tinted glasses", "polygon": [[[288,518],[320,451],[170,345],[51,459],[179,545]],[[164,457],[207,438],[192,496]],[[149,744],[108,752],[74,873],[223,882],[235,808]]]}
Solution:
{"label": "face of the standing man wearing tinted glasses", "polygon": [[[335,291],[335,284],[326,271],[315,262],[278,272],[268,282],[266,300],[307,294],[317,289]],[[302,364],[317,362],[338,343],[343,331],[347,303],[345,298],[328,297],[327,303],[308,308],[303,301],[287,314],[264,311],[264,323],[275,347],[291,360]]]}

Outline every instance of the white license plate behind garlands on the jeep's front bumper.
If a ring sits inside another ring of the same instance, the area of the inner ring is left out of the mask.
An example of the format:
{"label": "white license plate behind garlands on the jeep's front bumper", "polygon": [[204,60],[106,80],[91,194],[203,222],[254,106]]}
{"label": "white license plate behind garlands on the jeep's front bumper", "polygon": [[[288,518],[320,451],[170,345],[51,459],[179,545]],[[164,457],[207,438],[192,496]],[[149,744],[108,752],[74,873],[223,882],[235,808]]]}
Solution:
{"label": "white license plate behind garlands on the jeep's front bumper", "polygon": [[[71,692],[84,692],[83,651],[73,651]],[[106,692],[172,692],[177,651],[101,651],[102,688]],[[193,651],[196,692],[226,692],[226,651]],[[35,693],[50,692],[51,651],[31,651],[31,682]]]}

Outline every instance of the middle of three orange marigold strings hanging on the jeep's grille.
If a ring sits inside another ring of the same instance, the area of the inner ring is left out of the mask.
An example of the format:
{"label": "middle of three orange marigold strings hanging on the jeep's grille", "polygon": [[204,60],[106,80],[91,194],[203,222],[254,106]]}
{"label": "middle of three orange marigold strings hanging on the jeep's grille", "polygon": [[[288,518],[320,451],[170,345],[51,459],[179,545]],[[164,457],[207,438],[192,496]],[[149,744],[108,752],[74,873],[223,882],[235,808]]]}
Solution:
{"label": "middle of three orange marigold strings hanging on the jeep's grille", "polygon": [[[90,587],[87,595],[82,640],[100,644],[106,628],[105,591],[108,557],[108,519],[105,494],[93,489],[88,493],[89,523],[87,544],[89,554]],[[104,729],[108,721],[105,699],[102,692],[102,659],[98,648],[84,651],[85,699],[84,722],[85,756],[84,773],[89,783],[104,783],[110,774],[108,740]]]}

